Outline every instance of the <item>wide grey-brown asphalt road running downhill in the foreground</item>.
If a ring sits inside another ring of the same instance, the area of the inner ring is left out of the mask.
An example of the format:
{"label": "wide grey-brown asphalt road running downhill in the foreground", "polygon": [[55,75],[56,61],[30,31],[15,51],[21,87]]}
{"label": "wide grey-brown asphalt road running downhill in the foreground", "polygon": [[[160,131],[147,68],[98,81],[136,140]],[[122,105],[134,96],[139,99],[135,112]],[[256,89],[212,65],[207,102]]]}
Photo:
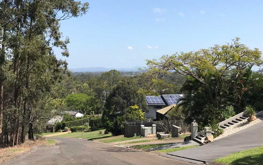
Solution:
{"label": "wide grey-brown asphalt road running downhill in the foreground", "polygon": [[159,156],[155,153],[126,149],[110,144],[92,142],[83,139],[54,138],[55,146],[37,146],[27,153],[2,163],[3,165],[193,165],[181,160]]}

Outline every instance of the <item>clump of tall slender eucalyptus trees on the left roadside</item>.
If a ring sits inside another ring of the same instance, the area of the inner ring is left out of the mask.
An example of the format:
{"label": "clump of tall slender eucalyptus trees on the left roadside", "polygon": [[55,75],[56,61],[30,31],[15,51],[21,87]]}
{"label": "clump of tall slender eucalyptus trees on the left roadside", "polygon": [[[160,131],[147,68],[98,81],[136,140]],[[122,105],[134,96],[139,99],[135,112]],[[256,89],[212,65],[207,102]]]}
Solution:
{"label": "clump of tall slender eucalyptus trees on the left roadside", "polygon": [[[3,107],[13,106],[12,145],[19,139],[19,114],[23,110],[21,142],[25,140],[25,132],[30,123],[30,114],[36,102],[34,89],[49,89],[53,81],[40,85],[42,74],[46,72],[56,75],[61,68],[66,68],[65,61],[55,58],[53,47],[61,48],[62,55],[68,57],[67,44],[69,39],[61,40],[59,21],[82,16],[87,12],[89,4],[74,0],[4,0],[0,3],[0,44],[1,44],[1,77],[0,77],[0,143],[2,143],[2,112]],[[53,60],[50,60],[53,58]],[[47,70],[44,70],[47,65]],[[51,67],[52,66],[52,67]],[[41,69],[42,68],[42,69]],[[13,98],[6,102],[3,98],[6,75],[13,79]],[[36,81],[38,80],[38,81]],[[5,118],[5,116],[4,116]],[[18,129],[15,129],[18,128]],[[32,138],[32,137],[30,137]]]}

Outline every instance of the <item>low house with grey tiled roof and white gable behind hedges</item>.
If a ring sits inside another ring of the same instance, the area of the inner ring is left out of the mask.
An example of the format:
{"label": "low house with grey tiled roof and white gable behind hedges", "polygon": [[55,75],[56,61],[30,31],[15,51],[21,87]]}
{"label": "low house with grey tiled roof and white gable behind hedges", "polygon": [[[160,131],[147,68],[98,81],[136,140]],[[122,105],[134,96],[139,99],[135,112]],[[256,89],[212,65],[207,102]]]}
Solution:
{"label": "low house with grey tiled roof and white gable behind hedges", "polygon": [[70,114],[74,118],[83,116],[83,114],[80,113],[79,111],[65,111],[64,113],[60,113],[59,115],[56,115],[53,118],[51,118],[49,121],[47,121],[47,130],[49,132],[57,131],[57,130],[55,130],[55,124],[56,124],[56,122],[61,122],[63,120],[63,115],[65,113]]}

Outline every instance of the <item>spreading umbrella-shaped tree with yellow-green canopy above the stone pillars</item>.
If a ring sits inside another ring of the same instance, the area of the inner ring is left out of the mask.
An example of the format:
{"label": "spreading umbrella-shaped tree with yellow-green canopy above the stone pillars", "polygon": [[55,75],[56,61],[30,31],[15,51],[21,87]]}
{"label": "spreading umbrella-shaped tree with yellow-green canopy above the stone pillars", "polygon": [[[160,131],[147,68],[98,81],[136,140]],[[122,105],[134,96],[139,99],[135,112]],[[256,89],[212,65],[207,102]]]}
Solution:
{"label": "spreading umbrella-shaped tree with yellow-green canopy above the stone pillars", "polygon": [[181,89],[186,93],[184,115],[204,122],[216,120],[222,106],[226,106],[230,84],[244,75],[248,65],[262,65],[261,51],[240,44],[215,45],[209,49],[163,56],[160,60],[147,60],[145,80],[152,80],[175,71],[186,76]]}

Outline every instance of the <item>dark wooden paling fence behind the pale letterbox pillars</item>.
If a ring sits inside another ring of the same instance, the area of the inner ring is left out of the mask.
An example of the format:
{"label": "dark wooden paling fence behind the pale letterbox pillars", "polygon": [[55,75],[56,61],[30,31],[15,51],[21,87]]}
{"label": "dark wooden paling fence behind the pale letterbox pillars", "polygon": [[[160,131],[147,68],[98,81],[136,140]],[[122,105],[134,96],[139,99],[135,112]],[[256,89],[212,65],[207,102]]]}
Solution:
{"label": "dark wooden paling fence behind the pale letterbox pillars", "polygon": [[134,121],[125,123],[124,137],[133,137],[134,134],[137,136],[141,135],[141,125],[145,127],[151,127],[153,124],[156,125],[156,132],[172,132],[172,125],[176,125],[182,128],[182,132],[191,132],[190,125],[184,123],[182,120],[161,120],[161,121]]}

